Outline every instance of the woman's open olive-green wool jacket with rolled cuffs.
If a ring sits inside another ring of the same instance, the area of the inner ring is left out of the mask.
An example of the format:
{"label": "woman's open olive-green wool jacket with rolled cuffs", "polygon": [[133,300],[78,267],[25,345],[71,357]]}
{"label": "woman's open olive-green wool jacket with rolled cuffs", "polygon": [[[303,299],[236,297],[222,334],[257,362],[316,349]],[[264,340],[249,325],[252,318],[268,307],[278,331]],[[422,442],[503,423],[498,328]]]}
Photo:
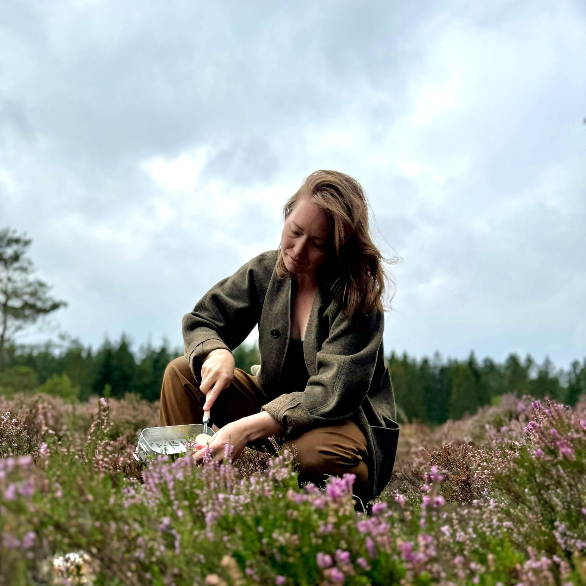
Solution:
{"label": "woman's open olive-green wool jacket with rolled cuffs", "polygon": [[217,348],[233,350],[258,324],[261,367],[256,380],[267,397],[263,410],[284,427],[282,441],[315,427],[355,421],[368,446],[369,489],[363,497],[370,500],[389,482],[399,432],[383,359],[383,312],[349,320],[339,302],[320,288],[305,331],[309,380],[304,391],[281,394],[292,282],[277,277],[276,262],[276,250],[259,254],[197,302],[183,317],[185,357],[201,382],[205,357]]}

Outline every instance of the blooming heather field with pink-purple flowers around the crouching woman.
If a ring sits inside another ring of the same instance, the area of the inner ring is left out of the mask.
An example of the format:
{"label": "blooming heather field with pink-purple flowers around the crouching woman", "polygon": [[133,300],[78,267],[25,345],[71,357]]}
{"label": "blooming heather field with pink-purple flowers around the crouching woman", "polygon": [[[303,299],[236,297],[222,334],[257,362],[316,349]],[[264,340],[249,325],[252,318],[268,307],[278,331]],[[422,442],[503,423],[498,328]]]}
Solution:
{"label": "blooming heather field with pink-purple flowers around the crouching woman", "polygon": [[370,514],[294,454],[132,458],[158,406],[0,397],[0,584],[586,584],[586,401],[401,426]]}

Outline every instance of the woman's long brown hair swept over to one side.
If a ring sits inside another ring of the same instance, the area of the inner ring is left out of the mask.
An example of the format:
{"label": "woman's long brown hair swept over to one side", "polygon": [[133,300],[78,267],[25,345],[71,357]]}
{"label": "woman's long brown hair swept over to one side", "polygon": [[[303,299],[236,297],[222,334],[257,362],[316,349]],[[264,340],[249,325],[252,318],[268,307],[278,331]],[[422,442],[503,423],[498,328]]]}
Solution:
{"label": "woman's long brown hair swept over to one side", "polygon": [[[329,295],[342,305],[348,318],[357,312],[384,311],[386,258],[374,245],[369,227],[369,206],[356,179],[338,171],[315,171],[283,207],[286,218],[301,197],[309,196],[332,219],[332,242],[318,271]],[[278,248],[277,276],[291,278]]]}

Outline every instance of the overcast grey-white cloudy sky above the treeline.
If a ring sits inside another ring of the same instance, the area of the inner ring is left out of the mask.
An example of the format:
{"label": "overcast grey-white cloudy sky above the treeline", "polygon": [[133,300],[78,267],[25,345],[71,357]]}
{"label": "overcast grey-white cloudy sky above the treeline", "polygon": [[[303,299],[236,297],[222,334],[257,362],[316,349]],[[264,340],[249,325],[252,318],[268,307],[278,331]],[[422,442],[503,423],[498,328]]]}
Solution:
{"label": "overcast grey-white cloudy sky above the treeline", "polygon": [[207,289],[278,246],[302,179],[335,169],[403,259],[387,353],[586,356],[584,2],[1,12],[0,228],[69,302],[55,328],[179,345]]}

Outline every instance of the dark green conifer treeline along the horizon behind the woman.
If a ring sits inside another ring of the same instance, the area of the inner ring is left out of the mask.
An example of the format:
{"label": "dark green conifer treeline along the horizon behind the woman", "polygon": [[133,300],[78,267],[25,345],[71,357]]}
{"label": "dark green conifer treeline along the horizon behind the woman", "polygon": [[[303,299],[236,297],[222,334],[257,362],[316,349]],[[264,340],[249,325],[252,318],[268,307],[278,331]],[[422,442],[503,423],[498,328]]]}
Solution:
{"label": "dark green conifer treeline along the horizon behind the woman", "polygon": [[[125,335],[118,342],[105,340],[97,350],[84,347],[79,340],[62,346],[8,345],[6,369],[0,373],[0,395],[12,389],[32,390],[56,374],[66,374],[71,384],[79,387],[80,401],[87,401],[91,395],[103,396],[106,385],[110,385],[111,397],[136,393],[156,401],[166,365],[182,353],[182,349],[166,342],[160,347],[149,343],[133,350]],[[260,362],[257,345],[241,345],[233,355],[236,366],[247,372]],[[536,364],[531,356],[520,360],[515,354],[503,364],[489,358],[479,362],[474,353],[467,360],[444,360],[437,353],[431,359],[416,360],[391,353],[387,362],[399,423],[442,424],[448,418],[459,419],[494,404],[507,393],[516,397],[548,396],[568,405],[575,405],[586,394],[586,359],[574,361],[567,371],[554,369],[548,359]],[[15,381],[15,367],[32,369],[32,373],[26,371],[29,379]],[[11,382],[5,384],[5,379]]]}

